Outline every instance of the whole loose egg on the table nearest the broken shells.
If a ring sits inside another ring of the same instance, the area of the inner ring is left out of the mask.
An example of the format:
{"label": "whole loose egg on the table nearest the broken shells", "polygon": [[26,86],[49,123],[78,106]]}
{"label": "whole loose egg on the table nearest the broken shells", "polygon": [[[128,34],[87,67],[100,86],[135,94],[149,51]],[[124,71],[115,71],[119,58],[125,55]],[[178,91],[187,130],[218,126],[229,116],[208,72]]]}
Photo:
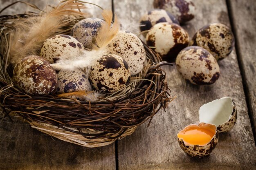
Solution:
{"label": "whole loose egg on the table nearest the broken shells", "polygon": [[220,77],[220,67],[211,53],[199,46],[189,46],[176,58],[177,70],[192,84],[213,84]]}

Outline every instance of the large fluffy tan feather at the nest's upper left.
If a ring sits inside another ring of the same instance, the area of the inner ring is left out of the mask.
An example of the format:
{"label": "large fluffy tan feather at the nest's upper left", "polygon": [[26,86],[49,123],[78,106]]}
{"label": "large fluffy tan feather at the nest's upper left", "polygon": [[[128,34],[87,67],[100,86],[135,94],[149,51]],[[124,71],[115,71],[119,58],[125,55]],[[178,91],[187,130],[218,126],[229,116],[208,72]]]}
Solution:
{"label": "large fluffy tan feather at the nest's upper left", "polygon": [[80,2],[67,0],[48,13],[41,12],[39,16],[13,19],[15,29],[10,32],[10,62],[15,65],[27,55],[39,55],[45,40],[63,31],[63,27],[67,26],[69,21],[64,20],[67,15],[72,17],[86,15],[76,9],[86,9],[86,7]]}

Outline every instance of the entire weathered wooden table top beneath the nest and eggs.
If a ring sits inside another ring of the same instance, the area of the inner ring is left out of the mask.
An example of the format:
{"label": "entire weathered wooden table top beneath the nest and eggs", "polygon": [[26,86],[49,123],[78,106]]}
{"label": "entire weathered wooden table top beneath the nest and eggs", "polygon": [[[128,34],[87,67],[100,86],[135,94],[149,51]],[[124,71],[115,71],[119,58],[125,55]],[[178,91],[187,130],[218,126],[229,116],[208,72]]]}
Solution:
{"label": "entire weathered wooden table top beneath the nest and eggs", "polygon": [[[0,0],[0,8],[14,0]],[[113,9],[122,21],[138,23],[153,0],[89,0]],[[43,8],[44,0],[27,0]],[[176,67],[164,67],[173,95],[179,95],[155,115],[151,125],[137,128],[130,136],[101,148],[84,148],[45,135],[25,122],[0,121],[0,170],[253,170],[256,169],[256,5],[254,0],[194,0],[195,18],[184,25],[190,37],[202,26],[221,22],[230,26],[236,49],[219,62],[220,79],[210,86],[194,86],[180,77]],[[9,12],[23,12],[16,5]],[[94,16],[100,10],[92,7]],[[229,96],[238,110],[231,132],[220,134],[217,147],[204,158],[186,155],[176,134],[198,122],[204,103]]]}

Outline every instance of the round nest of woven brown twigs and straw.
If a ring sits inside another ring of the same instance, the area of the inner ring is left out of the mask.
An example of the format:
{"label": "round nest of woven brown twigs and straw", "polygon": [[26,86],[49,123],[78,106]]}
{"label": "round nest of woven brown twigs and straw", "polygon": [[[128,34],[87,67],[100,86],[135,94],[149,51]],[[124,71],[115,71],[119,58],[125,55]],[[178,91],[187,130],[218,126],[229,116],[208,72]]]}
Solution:
{"label": "round nest of woven brown twigs and straw", "polygon": [[[166,108],[171,91],[166,75],[160,68],[162,62],[146,44],[146,64],[142,73],[133,77],[126,88],[112,95],[101,95],[96,102],[79,101],[57,95],[31,96],[23,93],[12,81],[12,67],[8,64],[8,51],[3,43],[9,44],[6,31],[14,29],[8,22],[13,18],[29,18],[40,15],[25,13],[0,16],[0,102],[4,117],[18,116],[41,132],[86,147],[111,144],[135,131],[137,126]],[[67,16],[68,24],[63,32],[68,34],[81,18]],[[5,29],[3,29],[5,28]],[[7,28],[7,29],[6,29]],[[58,33],[56,33],[58,34]],[[149,125],[148,124],[148,125]]]}

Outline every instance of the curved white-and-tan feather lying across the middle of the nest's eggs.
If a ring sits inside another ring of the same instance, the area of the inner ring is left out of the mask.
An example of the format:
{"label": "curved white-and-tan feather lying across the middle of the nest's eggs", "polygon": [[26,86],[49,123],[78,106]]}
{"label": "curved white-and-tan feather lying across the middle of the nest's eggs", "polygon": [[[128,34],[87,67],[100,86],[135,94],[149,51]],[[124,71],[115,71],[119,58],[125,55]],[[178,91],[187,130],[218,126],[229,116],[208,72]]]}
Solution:
{"label": "curved white-and-tan feather lying across the middle of the nest's eggs", "polygon": [[[92,44],[92,50],[84,50],[80,56],[77,57],[61,57],[60,60],[57,61],[56,64],[52,64],[52,66],[56,70],[75,70],[77,68],[90,68],[93,63],[99,60],[102,55],[109,53],[109,49],[112,47],[109,46],[110,42],[117,35],[120,25],[115,16],[115,22],[111,26],[112,22],[112,11],[103,10],[102,16],[105,19],[103,22],[101,29],[97,32],[95,43]],[[69,59],[67,59],[69,58]]]}

